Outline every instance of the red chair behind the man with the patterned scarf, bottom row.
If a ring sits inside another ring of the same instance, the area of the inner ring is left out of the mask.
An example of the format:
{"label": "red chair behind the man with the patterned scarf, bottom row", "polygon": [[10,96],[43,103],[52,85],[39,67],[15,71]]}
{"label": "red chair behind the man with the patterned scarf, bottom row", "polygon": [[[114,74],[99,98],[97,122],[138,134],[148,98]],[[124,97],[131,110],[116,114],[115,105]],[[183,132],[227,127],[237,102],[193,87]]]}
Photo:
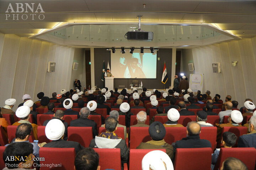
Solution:
{"label": "red chair behind the man with the patterned scarf, bottom row", "polygon": [[[94,148],[94,150],[99,154],[99,165],[101,169],[121,170],[120,148]],[[123,170],[128,170],[127,163],[124,164]]]}

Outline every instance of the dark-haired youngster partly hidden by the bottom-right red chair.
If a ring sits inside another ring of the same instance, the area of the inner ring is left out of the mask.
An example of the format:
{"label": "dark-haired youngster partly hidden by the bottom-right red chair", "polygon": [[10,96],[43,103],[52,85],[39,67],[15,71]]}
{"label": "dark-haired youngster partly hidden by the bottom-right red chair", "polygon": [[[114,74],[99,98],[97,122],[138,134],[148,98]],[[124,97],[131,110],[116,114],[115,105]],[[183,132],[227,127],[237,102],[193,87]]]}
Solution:
{"label": "dark-haired youngster partly hidden by the bottom-right red chair", "polygon": [[[232,146],[235,145],[237,140],[237,136],[231,132],[224,132],[222,135],[222,145],[224,148],[231,148]],[[211,168],[212,170],[214,169],[215,164],[217,163],[217,160],[219,158],[219,151],[220,148],[217,148],[214,153],[212,154],[212,165]]]}

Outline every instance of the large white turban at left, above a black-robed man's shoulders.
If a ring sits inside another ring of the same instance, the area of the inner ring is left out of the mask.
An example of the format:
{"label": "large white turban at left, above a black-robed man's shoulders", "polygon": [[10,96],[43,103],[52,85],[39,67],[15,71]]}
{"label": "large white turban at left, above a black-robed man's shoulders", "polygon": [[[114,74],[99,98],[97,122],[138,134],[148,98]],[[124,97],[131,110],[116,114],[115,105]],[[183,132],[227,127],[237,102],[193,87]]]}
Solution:
{"label": "large white turban at left, above a black-robed man's shoulders", "polygon": [[65,126],[59,119],[51,119],[45,128],[45,134],[46,137],[49,140],[57,141],[59,140],[63,135],[65,131]]}

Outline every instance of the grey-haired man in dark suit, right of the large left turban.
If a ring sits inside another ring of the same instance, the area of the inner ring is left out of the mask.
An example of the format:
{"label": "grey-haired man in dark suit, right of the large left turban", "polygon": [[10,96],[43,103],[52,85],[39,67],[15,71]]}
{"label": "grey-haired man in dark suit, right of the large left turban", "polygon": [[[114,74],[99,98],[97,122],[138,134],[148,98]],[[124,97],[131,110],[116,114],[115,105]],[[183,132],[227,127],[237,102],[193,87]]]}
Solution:
{"label": "grey-haired man in dark suit, right of the large left turban", "polygon": [[97,124],[93,121],[88,119],[90,116],[90,109],[88,107],[81,108],[80,110],[80,118],[70,121],[70,126],[75,127],[92,127],[92,134],[93,136],[97,136]]}

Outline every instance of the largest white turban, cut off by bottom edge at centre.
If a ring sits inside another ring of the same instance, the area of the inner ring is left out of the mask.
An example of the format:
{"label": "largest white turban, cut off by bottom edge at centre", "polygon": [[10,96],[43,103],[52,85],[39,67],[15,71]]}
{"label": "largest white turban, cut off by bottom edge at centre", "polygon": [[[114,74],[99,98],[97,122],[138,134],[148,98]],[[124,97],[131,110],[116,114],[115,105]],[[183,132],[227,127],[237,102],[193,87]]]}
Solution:
{"label": "largest white turban, cut off by bottom edge at centre", "polygon": [[[166,167],[166,168],[165,168]],[[174,170],[170,157],[163,151],[147,153],[142,159],[142,170]]]}

